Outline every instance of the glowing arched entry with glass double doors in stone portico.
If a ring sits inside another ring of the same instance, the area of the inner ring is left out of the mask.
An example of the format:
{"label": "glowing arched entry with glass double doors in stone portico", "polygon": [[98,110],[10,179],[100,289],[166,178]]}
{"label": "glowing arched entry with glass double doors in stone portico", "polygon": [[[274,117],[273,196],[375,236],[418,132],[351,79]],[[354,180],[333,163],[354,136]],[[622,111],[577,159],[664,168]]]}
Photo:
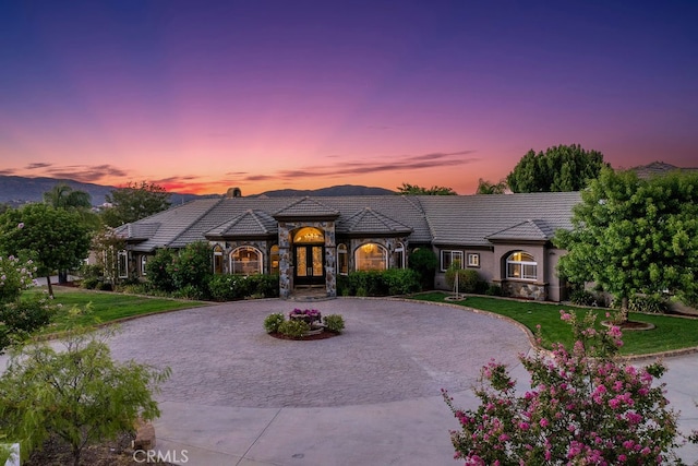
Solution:
{"label": "glowing arched entry with glass double doors in stone portico", "polygon": [[302,227],[293,234],[293,284],[325,286],[325,234],[320,228]]}

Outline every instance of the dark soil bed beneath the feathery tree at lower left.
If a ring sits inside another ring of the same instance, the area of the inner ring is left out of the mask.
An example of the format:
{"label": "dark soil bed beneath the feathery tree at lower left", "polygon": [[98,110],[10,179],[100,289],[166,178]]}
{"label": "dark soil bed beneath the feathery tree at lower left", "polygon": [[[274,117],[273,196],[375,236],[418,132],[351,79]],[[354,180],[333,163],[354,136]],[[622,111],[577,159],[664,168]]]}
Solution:
{"label": "dark soil bed beneath the feathery tree at lower left", "polygon": [[[133,439],[135,439],[135,433],[124,432],[115,441],[85,446],[80,456],[80,464],[85,466],[133,466],[143,464],[143,461],[136,462],[133,457],[133,449],[131,447]],[[143,459],[140,456],[139,458]],[[51,438],[44,443],[41,449],[35,450],[29,458],[22,464],[24,466],[72,465],[73,455],[65,442],[58,438]],[[171,463],[159,464],[174,466]]]}

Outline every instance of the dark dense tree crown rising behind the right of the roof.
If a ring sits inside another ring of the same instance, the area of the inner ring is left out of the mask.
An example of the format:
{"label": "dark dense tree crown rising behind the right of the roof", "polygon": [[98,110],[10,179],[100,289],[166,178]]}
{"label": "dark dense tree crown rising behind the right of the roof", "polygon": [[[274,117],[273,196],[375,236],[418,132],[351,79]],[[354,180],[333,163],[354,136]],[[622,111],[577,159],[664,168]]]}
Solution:
{"label": "dark dense tree crown rising behind the right of the roof", "polygon": [[558,145],[545,153],[530,150],[506,177],[513,192],[579,191],[610,167],[603,154],[585,151],[581,146]]}

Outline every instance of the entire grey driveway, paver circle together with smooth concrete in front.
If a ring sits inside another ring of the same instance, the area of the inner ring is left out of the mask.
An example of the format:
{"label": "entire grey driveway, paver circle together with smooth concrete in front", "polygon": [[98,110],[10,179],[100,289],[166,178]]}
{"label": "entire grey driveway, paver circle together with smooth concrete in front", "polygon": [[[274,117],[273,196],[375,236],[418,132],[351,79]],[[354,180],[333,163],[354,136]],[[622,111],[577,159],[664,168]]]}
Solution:
{"label": "entire grey driveway, paver circle together with smooth concrete in front", "polygon": [[[272,312],[296,307],[342,314],[342,335],[315,342],[265,334]],[[161,456],[182,465],[456,465],[448,431],[457,422],[442,387],[465,408],[482,365],[508,363],[522,383],[517,355],[531,346],[510,322],[447,306],[340,298],[305,303],[238,301],[122,325],[113,356],[172,377],[158,395]],[[662,381],[698,429],[698,356],[669,359]],[[0,366],[4,367],[2,358]],[[698,449],[684,447],[688,464]]]}

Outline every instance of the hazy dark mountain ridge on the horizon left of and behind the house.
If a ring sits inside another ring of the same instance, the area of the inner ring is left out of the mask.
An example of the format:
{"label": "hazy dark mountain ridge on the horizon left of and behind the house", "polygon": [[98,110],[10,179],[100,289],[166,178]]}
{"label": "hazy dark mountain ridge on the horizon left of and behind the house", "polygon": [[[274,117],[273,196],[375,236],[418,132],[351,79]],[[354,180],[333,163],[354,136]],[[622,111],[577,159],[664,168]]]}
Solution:
{"label": "hazy dark mountain ridge on the horizon left of and behind the house", "polygon": [[[58,178],[27,178],[0,175],[0,203],[19,206],[27,202],[40,202],[44,200],[44,193],[50,191],[56,184],[63,182],[77,191],[85,191],[92,196],[93,205],[101,205],[105,203],[105,196],[117,189],[112,186],[103,186],[94,183],[83,183],[70,179]],[[363,186],[344,184],[332,188],[322,188],[316,190],[293,190],[282,189],[275,191],[266,191],[254,196],[266,195],[268,198],[280,196],[329,196],[329,195],[384,195],[395,194],[394,191],[384,188],[370,188]],[[217,194],[182,194],[172,193],[170,202],[172,205],[183,204],[200,198],[215,198]]]}

